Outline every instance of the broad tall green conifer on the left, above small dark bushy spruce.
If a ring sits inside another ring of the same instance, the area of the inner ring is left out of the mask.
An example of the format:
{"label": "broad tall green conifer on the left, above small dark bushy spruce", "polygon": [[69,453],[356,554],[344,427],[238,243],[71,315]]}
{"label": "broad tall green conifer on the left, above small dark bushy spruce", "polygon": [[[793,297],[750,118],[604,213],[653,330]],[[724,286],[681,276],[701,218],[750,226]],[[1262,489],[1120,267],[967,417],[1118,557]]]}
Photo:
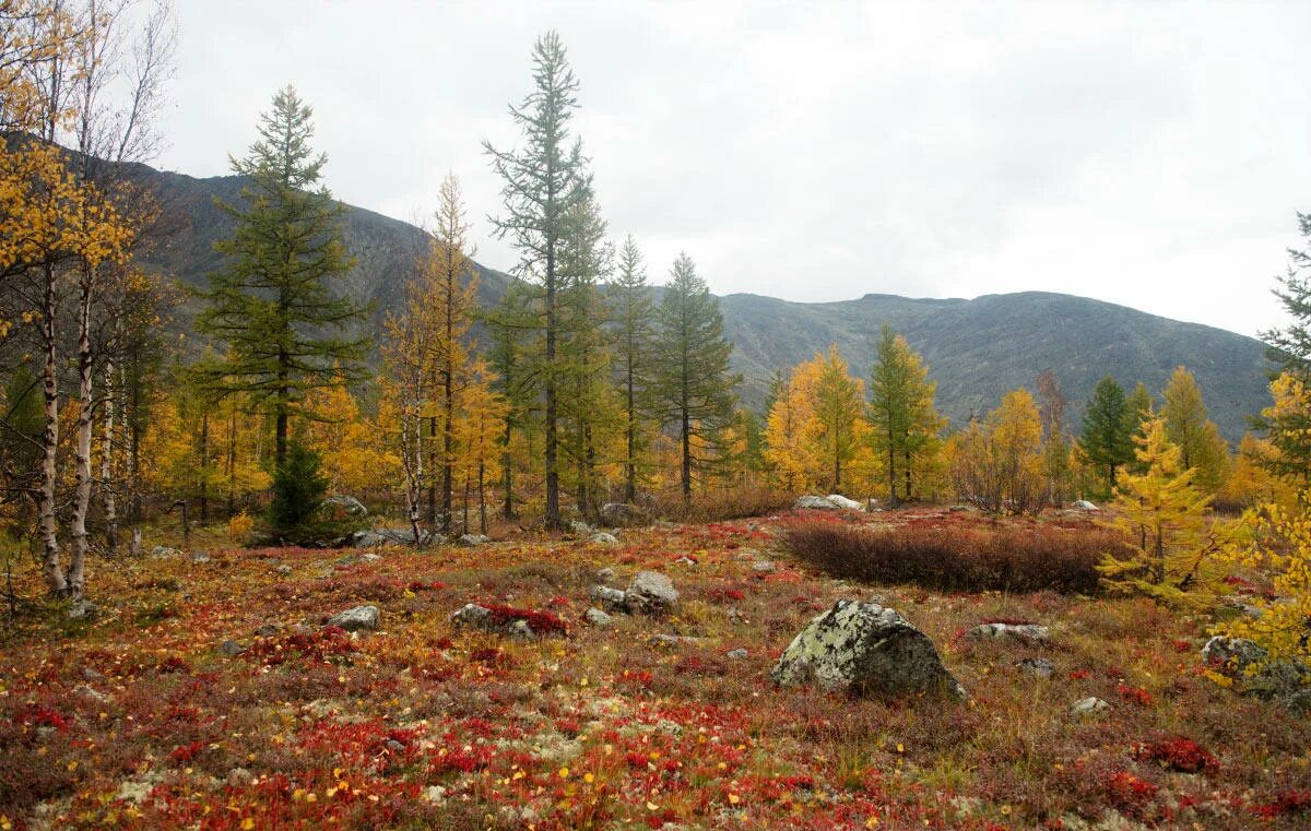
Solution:
{"label": "broad tall green conifer on the left, above small dark bushy spruce", "polygon": [[342,242],[343,207],[319,185],[326,156],[309,145],[312,115],[295,89],[282,89],[260,117],[261,139],[232,160],[248,180],[245,204],[219,203],[236,228],[214,244],[227,262],[199,292],[206,308],[197,317],[197,329],[225,346],[203,383],[219,395],[245,393],[273,416],[278,465],[305,393],[358,379],[368,343],[346,334],[366,309],[333,286],[355,261]]}

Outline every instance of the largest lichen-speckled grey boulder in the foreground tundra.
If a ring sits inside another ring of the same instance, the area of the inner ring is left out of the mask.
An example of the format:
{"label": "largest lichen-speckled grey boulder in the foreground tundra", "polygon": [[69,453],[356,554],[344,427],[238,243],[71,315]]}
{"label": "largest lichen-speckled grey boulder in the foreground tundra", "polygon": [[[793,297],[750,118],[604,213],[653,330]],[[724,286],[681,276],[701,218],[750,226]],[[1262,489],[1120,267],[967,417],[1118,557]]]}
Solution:
{"label": "largest lichen-speckled grey boulder in the foreground tundra", "polygon": [[812,620],[770,674],[781,687],[815,683],[856,695],[965,697],[927,634],[895,609],[859,600],[838,600]]}

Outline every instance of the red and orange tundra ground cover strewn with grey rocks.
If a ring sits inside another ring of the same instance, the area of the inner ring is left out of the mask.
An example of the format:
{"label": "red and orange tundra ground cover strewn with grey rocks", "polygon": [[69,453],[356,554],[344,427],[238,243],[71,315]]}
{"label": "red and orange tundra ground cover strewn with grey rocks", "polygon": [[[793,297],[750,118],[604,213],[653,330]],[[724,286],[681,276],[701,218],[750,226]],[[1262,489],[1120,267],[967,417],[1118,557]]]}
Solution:
{"label": "red and orange tundra ground cover strewn with grey rocks", "polygon": [[1311,823],[1307,717],[1207,667],[1211,621],[842,583],[777,549],[806,514],[100,564],[96,609],[4,630],[0,828]]}

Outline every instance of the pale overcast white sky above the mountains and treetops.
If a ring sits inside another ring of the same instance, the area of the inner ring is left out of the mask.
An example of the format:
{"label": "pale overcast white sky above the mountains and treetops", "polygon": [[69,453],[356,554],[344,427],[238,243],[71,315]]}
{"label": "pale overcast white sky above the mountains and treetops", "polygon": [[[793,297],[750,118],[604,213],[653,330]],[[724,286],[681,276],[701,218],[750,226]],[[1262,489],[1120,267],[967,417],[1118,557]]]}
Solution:
{"label": "pale overcast white sky above the mountains and treetops", "polygon": [[460,177],[560,33],[616,240],[716,294],[827,301],[1059,291],[1243,334],[1311,212],[1311,3],[178,0],[159,166],[228,172],[273,93],[315,107],[325,181],[408,222]]}

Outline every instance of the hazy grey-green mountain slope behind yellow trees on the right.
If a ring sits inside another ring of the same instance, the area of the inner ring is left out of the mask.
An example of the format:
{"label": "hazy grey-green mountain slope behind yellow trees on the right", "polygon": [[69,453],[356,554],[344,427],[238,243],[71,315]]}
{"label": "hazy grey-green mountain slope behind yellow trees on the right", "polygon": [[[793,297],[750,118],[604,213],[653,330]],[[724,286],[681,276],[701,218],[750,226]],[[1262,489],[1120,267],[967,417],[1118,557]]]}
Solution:
{"label": "hazy grey-green mountain slope behind yellow trees on the right", "polygon": [[1223,329],[1156,317],[1122,305],[1050,292],[985,295],[974,300],[916,300],[865,295],[840,303],[788,303],[756,295],[722,298],[724,322],[747,395],[763,398],[777,366],[836,343],[852,372],[869,376],[886,321],[924,355],[937,402],[953,423],[983,413],[1016,387],[1034,389],[1057,374],[1078,430],[1083,401],[1108,372],[1126,388],[1143,381],[1154,396],[1185,364],[1197,376],[1211,418],[1231,442],[1264,406],[1264,346]]}

